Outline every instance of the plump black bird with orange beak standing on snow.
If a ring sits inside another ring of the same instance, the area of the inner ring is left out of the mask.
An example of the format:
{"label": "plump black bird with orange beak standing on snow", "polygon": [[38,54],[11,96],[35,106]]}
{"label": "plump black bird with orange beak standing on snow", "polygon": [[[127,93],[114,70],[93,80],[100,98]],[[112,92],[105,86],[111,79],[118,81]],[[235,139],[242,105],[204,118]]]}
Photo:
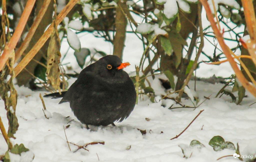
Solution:
{"label": "plump black bird with orange beak standing on snow", "polygon": [[87,126],[122,122],[136,102],[134,84],[122,70],[129,65],[117,56],[107,55],[84,68],[67,91],[44,97],[62,98],[59,104],[69,102],[74,115]]}

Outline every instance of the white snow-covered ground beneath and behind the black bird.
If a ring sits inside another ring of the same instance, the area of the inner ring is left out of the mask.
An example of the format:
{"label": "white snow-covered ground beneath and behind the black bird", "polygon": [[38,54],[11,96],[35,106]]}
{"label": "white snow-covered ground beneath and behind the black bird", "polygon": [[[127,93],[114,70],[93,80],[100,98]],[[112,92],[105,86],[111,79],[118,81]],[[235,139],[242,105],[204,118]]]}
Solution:
{"label": "white snow-covered ground beneath and behind the black bird", "polygon": [[[203,14],[204,15],[204,14]],[[204,27],[208,21],[204,18]],[[242,30],[242,29],[241,29]],[[112,53],[113,47],[101,38],[95,38],[92,34],[80,35],[81,46],[87,48],[96,48],[106,53]],[[127,72],[134,71],[134,65],[138,64],[143,48],[139,39],[133,34],[127,34],[126,47],[124,50],[123,60],[129,61],[132,66],[127,67]],[[229,45],[232,45],[229,42]],[[65,53],[68,48],[64,40],[61,53]],[[212,54],[212,48],[206,41],[204,49],[208,54]],[[239,51],[238,51],[239,54]],[[202,56],[201,60],[206,58]],[[70,62],[73,69],[81,71],[73,51],[69,50],[68,55],[63,63]],[[213,74],[217,76],[228,77],[233,73],[228,63],[220,66],[201,64],[197,70],[197,76],[210,77]],[[158,76],[164,78],[164,76]],[[69,80],[69,85],[75,81],[74,78]],[[157,94],[164,94],[159,80],[152,81],[152,87]],[[190,81],[189,87],[194,89],[194,81]],[[151,103],[146,96],[141,98],[138,105],[129,118],[122,123],[116,123],[116,126],[93,127],[91,130],[85,129],[82,124],[72,113],[69,104],[58,104],[60,99],[45,98],[47,109],[46,119],[42,111],[42,103],[39,93],[45,94],[46,91],[31,91],[25,87],[15,86],[18,92],[18,104],[16,107],[16,116],[18,117],[19,129],[15,134],[16,139],[12,143],[23,143],[34,154],[35,162],[166,162],[166,161],[189,161],[205,162],[216,161],[219,157],[233,155],[235,150],[224,149],[214,151],[208,145],[213,136],[220,135],[225,141],[230,141],[235,145],[239,143],[240,152],[243,155],[256,154],[256,104],[249,93],[244,98],[241,105],[231,103],[229,96],[223,95],[221,98],[215,98],[217,92],[223,87],[223,84],[209,84],[196,82],[196,93],[199,97],[199,104],[205,100],[204,96],[210,96],[198,108],[182,108],[169,110],[168,107],[179,106],[173,100],[159,100]],[[229,87],[229,89],[231,89]],[[235,93],[237,96],[237,93]],[[193,106],[190,100],[182,99],[182,104]],[[6,128],[8,121],[6,111],[3,107],[3,100],[0,100],[0,116]],[[165,106],[165,107],[164,107]],[[188,129],[177,139],[170,140],[182,132],[194,117],[204,110],[199,117],[188,127]],[[69,116],[69,117],[68,117]],[[146,120],[146,118],[148,118]],[[90,142],[102,142],[104,145],[89,145],[89,151],[80,149],[73,153],[78,147],[70,144],[69,150],[66,142],[65,129],[69,142],[84,145]],[[138,130],[146,130],[146,134]],[[198,140],[206,147],[193,152],[190,158],[183,156],[180,144],[189,145],[192,140]],[[4,138],[0,135],[0,155],[7,150]],[[222,158],[219,161],[236,161],[234,157]]]}

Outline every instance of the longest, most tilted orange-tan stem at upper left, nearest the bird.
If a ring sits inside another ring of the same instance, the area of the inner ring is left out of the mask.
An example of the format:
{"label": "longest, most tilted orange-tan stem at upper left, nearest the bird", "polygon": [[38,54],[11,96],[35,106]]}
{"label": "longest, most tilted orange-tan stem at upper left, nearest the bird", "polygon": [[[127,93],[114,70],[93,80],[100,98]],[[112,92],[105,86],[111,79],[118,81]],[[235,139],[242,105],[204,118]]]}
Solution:
{"label": "longest, most tilted orange-tan stem at upper left, nearest the bird", "polygon": [[[70,0],[69,3],[61,10],[59,15],[56,18],[56,25],[59,25],[61,21],[67,16],[69,11],[74,7],[74,5],[79,0]],[[45,33],[41,36],[41,38],[36,42],[34,47],[27,53],[27,55],[19,62],[19,64],[14,68],[15,77],[26,67],[26,65],[30,62],[30,60],[36,55],[36,53],[42,48],[47,39],[51,36],[51,33],[54,31],[53,23],[49,26],[49,28],[45,31]]]}

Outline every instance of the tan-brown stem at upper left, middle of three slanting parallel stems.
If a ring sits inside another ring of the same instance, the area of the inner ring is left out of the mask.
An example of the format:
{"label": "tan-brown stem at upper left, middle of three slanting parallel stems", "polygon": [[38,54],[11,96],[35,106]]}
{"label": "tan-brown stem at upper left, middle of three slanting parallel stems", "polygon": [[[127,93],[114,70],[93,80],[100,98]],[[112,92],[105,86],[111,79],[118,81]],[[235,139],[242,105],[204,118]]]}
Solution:
{"label": "tan-brown stem at upper left, middle of three slanting parallel stems", "polygon": [[26,36],[26,38],[24,39],[24,41],[22,42],[21,46],[19,47],[18,51],[15,53],[15,60],[14,62],[17,62],[17,60],[20,58],[20,56],[23,54],[23,52],[25,51],[25,49],[28,47],[29,42],[31,41],[31,38],[33,37],[42,17],[44,16],[49,4],[50,4],[51,0],[45,0],[39,13],[36,16],[36,19],[34,21],[34,23],[32,24],[30,30],[28,31],[28,34]]}

